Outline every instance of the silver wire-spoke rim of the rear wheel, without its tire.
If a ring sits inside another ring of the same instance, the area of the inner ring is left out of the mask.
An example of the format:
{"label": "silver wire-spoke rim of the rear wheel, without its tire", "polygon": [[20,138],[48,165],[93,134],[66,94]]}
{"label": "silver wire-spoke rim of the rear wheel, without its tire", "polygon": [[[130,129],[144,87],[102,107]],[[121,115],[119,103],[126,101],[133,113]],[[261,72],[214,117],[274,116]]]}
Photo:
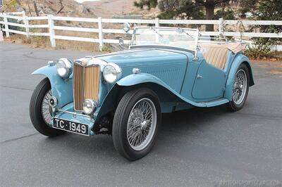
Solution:
{"label": "silver wire-spoke rim of the rear wheel, without its tire", "polygon": [[233,85],[233,101],[236,105],[240,105],[245,98],[247,92],[247,75],[245,70],[240,69],[235,75],[235,82]]}

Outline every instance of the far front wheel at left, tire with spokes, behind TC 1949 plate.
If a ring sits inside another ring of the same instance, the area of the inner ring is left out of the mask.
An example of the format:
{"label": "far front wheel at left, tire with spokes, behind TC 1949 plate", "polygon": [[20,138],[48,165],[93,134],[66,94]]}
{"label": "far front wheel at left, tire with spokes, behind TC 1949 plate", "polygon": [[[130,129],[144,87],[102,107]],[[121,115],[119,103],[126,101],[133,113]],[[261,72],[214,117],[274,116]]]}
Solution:
{"label": "far front wheel at left, tire with spokes, behind TC 1949 plate", "polygon": [[30,120],[33,127],[45,136],[59,136],[66,131],[51,127],[51,115],[48,108],[51,98],[51,84],[48,78],[43,79],[36,86],[30,99]]}

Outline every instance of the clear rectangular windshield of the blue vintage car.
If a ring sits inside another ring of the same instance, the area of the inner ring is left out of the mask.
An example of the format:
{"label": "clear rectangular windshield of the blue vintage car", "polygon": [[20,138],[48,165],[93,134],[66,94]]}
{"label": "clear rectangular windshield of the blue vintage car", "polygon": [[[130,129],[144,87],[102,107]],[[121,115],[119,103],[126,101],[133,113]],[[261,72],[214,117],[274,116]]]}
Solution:
{"label": "clear rectangular windshield of the blue vintage car", "polygon": [[196,50],[198,30],[173,27],[137,27],[131,46],[161,45]]}

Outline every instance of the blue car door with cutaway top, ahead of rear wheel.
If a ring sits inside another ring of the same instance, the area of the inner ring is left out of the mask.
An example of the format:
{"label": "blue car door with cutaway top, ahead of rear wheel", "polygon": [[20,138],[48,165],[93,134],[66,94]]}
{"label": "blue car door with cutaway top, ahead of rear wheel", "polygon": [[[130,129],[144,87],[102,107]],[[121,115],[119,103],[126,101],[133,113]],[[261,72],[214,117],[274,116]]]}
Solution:
{"label": "blue car door with cutaway top, ahead of rear wheel", "polygon": [[202,60],[195,77],[192,97],[202,102],[223,98],[225,84],[225,72]]}

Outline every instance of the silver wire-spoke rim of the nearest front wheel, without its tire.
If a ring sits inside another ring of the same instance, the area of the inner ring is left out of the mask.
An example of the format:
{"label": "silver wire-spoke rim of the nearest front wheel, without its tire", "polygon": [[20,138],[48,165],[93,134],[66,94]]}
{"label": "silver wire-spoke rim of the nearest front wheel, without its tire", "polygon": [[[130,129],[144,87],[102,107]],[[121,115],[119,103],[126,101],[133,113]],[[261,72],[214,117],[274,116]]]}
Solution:
{"label": "silver wire-spoke rim of the nearest front wheel, without its tire", "polygon": [[157,110],[149,98],[137,101],[130,111],[127,138],[133,150],[143,150],[152,141],[157,126]]}

